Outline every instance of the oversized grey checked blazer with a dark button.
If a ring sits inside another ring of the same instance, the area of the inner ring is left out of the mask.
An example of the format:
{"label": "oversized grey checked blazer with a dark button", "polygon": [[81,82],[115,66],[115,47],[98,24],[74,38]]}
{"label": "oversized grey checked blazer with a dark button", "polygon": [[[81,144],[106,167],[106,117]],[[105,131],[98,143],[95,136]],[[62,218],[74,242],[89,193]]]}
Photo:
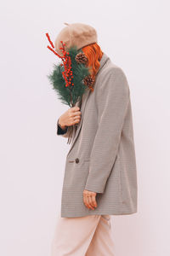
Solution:
{"label": "oversized grey checked blazer with a dark button", "polygon": [[[57,135],[69,137],[61,197],[61,217],[137,212],[137,170],[133,142],[133,115],[127,78],[104,53],[94,91],[86,90],[77,125]],[[59,119],[58,119],[59,121]],[[83,190],[97,192],[98,207],[88,209]]]}

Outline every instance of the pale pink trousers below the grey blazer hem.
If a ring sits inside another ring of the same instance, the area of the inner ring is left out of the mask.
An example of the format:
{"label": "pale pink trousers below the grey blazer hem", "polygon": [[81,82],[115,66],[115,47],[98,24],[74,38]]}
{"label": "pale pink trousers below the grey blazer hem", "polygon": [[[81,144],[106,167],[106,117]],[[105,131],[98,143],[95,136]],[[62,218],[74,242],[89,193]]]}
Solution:
{"label": "pale pink trousers below the grey blazer hem", "polygon": [[52,256],[115,256],[111,215],[57,219]]}

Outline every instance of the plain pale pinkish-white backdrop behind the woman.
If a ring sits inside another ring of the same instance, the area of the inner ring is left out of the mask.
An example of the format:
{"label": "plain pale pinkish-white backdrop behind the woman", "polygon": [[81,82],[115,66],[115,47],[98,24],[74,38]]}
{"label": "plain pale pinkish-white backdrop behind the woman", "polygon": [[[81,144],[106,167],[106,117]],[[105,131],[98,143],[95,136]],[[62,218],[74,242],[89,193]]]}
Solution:
{"label": "plain pale pinkish-white backdrop behind the woman", "polygon": [[1,3],[1,255],[50,256],[70,145],[56,136],[68,106],[47,78],[58,58],[45,33],[54,41],[64,22],[94,26],[129,83],[139,209],[111,217],[116,256],[170,255],[169,9],[166,0]]}

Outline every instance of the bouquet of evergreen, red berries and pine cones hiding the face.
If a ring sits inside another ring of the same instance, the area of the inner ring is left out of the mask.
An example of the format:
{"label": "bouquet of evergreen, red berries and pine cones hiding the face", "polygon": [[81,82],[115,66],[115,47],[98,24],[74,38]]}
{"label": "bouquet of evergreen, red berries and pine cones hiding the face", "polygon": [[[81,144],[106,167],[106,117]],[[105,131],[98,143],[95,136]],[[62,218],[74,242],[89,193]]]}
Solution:
{"label": "bouquet of evergreen, red berries and pine cones hiding the face", "polygon": [[54,50],[54,44],[46,33],[52,52],[61,59],[61,63],[54,64],[54,70],[48,75],[50,84],[57,92],[59,100],[70,107],[74,107],[76,103],[82,99],[82,95],[86,88],[94,90],[92,85],[94,79],[90,74],[90,67],[87,66],[88,58],[84,55],[82,49],[77,49],[77,46],[71,46],[65,49],[65,43],[62,44],[61,49],[63,56],[59,55]]}

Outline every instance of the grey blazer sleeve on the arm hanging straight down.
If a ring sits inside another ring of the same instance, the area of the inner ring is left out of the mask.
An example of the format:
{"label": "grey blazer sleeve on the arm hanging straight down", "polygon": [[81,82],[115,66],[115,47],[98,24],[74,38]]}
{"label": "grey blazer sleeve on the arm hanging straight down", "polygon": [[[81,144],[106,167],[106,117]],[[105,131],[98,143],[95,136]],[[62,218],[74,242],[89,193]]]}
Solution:
{"label": "grey blazer sleeve on the arm hanging straight down", "polygon": [[116,160],[129,94],[127,78],[121,67],[114,67],[111,73],[105,75],[96,91],[99,119],[85,184],[85,189],[89,191],[104,193],[105,183]]}

